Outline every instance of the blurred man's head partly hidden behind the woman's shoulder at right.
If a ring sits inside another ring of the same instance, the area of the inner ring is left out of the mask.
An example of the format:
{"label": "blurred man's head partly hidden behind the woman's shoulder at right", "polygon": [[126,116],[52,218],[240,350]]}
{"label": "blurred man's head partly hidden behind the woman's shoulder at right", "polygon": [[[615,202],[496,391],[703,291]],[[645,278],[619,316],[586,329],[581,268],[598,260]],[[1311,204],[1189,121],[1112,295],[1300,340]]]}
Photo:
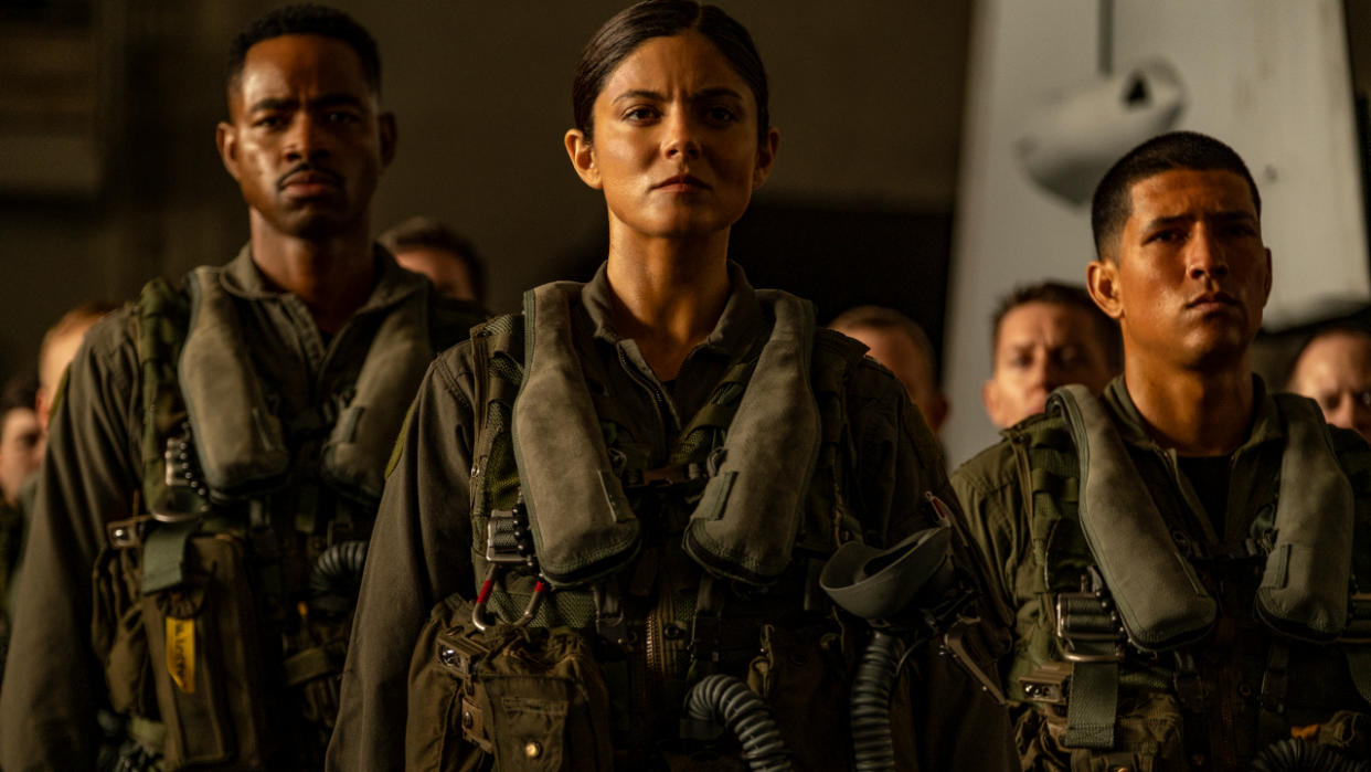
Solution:
{"label": "blurred man's head partly hidden behind the woman's shoulder at right", "polygon": [[919,322],[894,309],[857,306],[828,325],[866,346],[866,355],[884,365],[909,392],[934,436],[947,421],[947,398],[938,385],[938,355]]}

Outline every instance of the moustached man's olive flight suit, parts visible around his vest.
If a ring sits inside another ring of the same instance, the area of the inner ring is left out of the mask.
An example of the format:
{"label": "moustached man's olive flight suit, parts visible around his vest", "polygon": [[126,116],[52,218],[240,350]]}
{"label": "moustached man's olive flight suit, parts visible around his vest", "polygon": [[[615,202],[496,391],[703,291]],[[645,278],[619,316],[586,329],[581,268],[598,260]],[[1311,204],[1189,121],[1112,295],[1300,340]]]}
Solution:
{"label": "moustached man's olive flight suit, parts visible around his vest", "polygon": [[[400,269],[380,247],[370,296],[332,336],[321,333],[300,298],[269,285],[247,247],[223,267],[218,281],[232,304],[236,335],[250,354],[252,372],[271,395],[273,413],[282,424],[339,399],[356,381],[373,337],[393,313],[417,309],[425,319],[451,319],[451,329],[429,329],[429,344],[437,346],[463,339],[483,317],[474,307],[455,309],[454,302],[439,299],[428,280]],[[448,309],[441,315],[439,304]],[[140,510],[147,506],[136,505],[144,483],[140,448],[144,374],[137,310],[126,306],[92,328],[69,370],[64,398],[53,411],[19,577],[23,590],[15,636],[0,691],[0,765],[8,771],[95,768],[101,742],[96,714],[108,702],[106,676],[92,646],[92,566],[108,544],[106,525],[136,514],[134,506]],[[389,399],[407,405],[417,385],[406,384]],[[243,431],[252,428],[244,425]],[[361,513],[355,522],[361,532],[354,538],[365,538],[367,513],[376,502],[356,498],[355,491],[344,502],[341,494],[311,476],[310,470],[318,465],[310,457],[319,453],[317,429],[311,435],[292,428],[285,436],[289,474],[262,495],[270,496],[266,505],[270,511],[280,510],[293,520],[273,516],[271,522],[285,551],[278,561],[288,577],[284,581],[299,587],[302,581],[307,584],[308,566],[300,565],[295,550],[321,544],[329,518],[344,505]],[[300,439],[306,436],[310,439]],[[381,472],[377,470],[377,479]],[[245,509],[247,502],[233,506]],[[300,529],[306,522],[300,517],[313,518],[311,532]],[[287,602],[285,610],[293,612],[296,599]],[[207,647],[213,642],[197,644]],[[269,672],[281,666],[270,661],[270,654],[266,658],[263,668]],[[159,665],[149,662],[151,668]],[[318,754],[295,747],[318,743],[292,729],[306,725],[295,713],[299,697],[280,684],[267,683],[265,688],[267,694],[260,695],[259,705],[276,731],[267,740],[274,747],[267,765],[293,765],[287,760]]]}

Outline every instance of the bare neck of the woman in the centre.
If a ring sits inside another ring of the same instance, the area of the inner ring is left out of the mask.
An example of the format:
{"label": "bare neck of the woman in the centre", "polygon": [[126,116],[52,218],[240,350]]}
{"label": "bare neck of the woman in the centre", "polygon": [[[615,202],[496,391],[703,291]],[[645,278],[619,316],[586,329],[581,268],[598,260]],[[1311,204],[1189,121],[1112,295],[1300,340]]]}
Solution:
{"label": "bare neck of the woman in the centre", "polygon": [[613,322],[669,381],[728,304],[728,230],[701,240],[624,239],[611,226]]}

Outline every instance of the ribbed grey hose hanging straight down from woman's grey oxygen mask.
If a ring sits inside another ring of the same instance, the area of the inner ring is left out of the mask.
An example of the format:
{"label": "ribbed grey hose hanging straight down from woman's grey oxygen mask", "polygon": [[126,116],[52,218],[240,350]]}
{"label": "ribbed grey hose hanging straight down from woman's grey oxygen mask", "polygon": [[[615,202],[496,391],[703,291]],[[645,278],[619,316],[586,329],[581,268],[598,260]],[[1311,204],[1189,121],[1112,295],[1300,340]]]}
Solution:
{"label": "ribbed grey hose hanging straight down from woman's grey oxygen mask", "polygon": [[851,691],[853,769],[857,772],[895,768],[890,692],[899,673],[902,649],[898,638],[877,631],[857,665]]}

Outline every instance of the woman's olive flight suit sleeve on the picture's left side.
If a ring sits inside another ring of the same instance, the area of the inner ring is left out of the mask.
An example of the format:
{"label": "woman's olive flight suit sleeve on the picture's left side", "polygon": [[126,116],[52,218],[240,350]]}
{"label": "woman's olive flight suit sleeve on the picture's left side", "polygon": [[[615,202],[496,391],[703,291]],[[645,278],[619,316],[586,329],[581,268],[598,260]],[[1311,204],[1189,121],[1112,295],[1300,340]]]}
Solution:
{"label": "woman's olive flight suit sleeve on the picture's left side", "polygon": [[400,769],[410,660],[429,612],[470,592],[470,346],[429,367],[381,496],[343,669],[328,769]]}

